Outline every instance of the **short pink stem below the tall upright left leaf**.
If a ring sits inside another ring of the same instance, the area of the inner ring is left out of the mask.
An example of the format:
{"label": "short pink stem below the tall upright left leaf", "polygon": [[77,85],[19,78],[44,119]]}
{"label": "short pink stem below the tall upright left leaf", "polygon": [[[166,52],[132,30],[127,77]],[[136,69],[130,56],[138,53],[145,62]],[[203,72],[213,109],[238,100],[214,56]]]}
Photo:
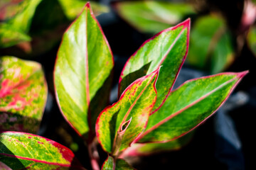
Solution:
{"label": "short pink stem below the tall upright left leaf", "polygon": [[97,147],[95,145],[95,142],[92,141],[90,142],[90,144],[88,144],[88,152],[90,156],[92,169],[100,170],[100,166],[99,166],[100,156],[99,156],[99,153],[97,152]]}

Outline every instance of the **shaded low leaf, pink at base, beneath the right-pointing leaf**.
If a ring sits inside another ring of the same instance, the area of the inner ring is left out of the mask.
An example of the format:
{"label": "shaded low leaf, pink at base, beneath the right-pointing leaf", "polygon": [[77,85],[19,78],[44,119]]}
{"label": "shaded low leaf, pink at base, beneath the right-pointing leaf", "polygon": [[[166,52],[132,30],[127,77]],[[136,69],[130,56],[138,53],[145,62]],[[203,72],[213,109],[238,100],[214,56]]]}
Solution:
{"label": "shaded low leaf, pink at base, beneath the right-pointing leaf", "polygon": [[191,141],[193,133],[190,132],[183,137],[180,137],[176,140],[164,143],[136,143],[132,147],[127,148],[120,157],[136,157],[136,156],[146,156],[151,154],[156,154],[159,152],[170,152],[174,150],[181,149],[185,145],[188,145],[188,142]]}

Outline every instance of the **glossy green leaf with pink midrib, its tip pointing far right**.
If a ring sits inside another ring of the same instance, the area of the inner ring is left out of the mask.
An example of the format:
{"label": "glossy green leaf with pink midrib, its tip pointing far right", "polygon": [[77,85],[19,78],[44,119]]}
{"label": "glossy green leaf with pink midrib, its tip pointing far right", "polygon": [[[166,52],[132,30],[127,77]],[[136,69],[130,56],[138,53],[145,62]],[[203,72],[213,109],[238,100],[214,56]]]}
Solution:
{"label": "glossy green leaf with pink midrib, its tip pointing far right", "polygon": [[245,74],[216,74],[186,81],[149,117],[139,142],[167,142],[190,132],[222,105]]}

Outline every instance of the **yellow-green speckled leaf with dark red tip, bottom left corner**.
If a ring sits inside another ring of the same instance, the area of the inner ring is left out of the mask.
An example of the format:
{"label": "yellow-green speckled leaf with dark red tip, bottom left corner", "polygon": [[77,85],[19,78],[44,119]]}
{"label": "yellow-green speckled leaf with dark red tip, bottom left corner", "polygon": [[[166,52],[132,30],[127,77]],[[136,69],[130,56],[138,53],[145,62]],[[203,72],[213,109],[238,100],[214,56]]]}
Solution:
{"label": "yellow-green speckled leaf with dark red tip, bottom left corner", "polygon": [[[11,169],[82,169],[70,149],[23,132],[0,134],[0,159]],[[71,167],[72,169],[72,167]]]}

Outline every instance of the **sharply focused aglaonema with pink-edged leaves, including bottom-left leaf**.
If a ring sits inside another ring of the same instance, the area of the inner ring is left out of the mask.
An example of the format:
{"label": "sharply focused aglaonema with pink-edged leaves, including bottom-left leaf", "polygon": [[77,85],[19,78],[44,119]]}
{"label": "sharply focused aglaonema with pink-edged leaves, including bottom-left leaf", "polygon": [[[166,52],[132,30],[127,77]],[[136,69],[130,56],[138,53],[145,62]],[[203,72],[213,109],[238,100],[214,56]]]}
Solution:
{"label": "sharply focused aglaonema with pink-edged leaves, including bottom-left leaf", "polygon": [[[113,55],[89,3],[65,31],[55,62],[55,94],[64,118],[85,140],[92,169],[100,169],[97,142],[108,153],[102,169],[133,169],[125,155],[175,145],[209,118],[247,74],[215,74],[172,90],[188,54],[189,31],[190,19],[146,40],[125,64],[119,100],[112,106],[107,105]],[[83,169],[70,149],[44,137],[2,132],[0,141],[5,169]]]}

